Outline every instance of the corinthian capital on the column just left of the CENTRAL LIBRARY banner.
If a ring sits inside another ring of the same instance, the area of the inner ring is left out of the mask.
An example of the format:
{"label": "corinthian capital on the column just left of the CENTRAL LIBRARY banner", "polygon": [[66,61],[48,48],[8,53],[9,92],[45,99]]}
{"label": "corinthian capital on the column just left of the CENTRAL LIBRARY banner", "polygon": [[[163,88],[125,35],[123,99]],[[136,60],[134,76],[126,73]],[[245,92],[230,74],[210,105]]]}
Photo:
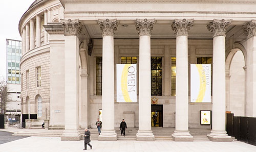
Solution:
{"label": "corinthian capital on the column just left of the CENTRAL LIBRARY banner", "polygon": [[172,24],[172,30],[177,36],[188,36],[188,31],[193,27],[194,19],[175,19]]}

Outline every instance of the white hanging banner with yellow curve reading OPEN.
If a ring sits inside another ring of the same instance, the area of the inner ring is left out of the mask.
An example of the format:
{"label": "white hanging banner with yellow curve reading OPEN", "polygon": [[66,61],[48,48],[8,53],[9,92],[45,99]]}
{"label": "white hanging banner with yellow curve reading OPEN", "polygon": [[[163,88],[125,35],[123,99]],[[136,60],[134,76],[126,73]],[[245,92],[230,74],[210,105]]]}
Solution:
{"label": "white hanging banner with yellow curve reading OPEN", "polygon": [[137,64],[116,65],[117,102],[137,102]]}

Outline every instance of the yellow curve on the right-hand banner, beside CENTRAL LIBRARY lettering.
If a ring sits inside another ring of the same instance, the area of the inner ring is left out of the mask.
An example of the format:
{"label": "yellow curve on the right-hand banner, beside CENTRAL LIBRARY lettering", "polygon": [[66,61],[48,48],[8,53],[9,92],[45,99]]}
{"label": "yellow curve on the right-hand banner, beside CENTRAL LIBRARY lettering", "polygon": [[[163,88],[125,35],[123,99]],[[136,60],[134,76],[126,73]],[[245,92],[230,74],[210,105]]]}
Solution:
{"label": "yellow curve on the right-hand banner, beside CENTRAL LIBRARY lettering", "polygon": [[[200,89],[197,96],[196,103],[201,103],[203,101],[205,90],[206,90],[206,80],[205,80],[205,73],[202,73],[203,65],[202,64],[196,64],[197,70],[199,73],[199,79],[200,79]],[[204,82],[202,82],[202,79],[204,79]]]}

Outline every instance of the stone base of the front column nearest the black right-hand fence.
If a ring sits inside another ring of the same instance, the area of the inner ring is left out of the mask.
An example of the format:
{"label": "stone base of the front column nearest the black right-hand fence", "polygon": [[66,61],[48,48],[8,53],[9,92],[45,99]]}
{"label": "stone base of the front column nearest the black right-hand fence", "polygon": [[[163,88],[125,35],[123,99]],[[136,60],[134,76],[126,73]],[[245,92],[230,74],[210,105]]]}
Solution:
{"label": "stone base of the front column nearest the black right-hand fence", "polygon": [[210,141],[219,141],[219,142],[231,142],[231,136],[227,135],[226,131],[213,131],[211,130],[210,134],[207,135]]}

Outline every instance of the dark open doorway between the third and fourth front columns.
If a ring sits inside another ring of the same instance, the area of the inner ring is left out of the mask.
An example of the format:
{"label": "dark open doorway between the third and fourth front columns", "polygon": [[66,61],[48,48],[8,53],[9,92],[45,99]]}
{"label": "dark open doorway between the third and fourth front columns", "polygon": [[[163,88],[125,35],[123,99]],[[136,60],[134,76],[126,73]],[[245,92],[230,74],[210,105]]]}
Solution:
{"label": "dark open doorway between the third and fourth front columns", "polygon": [[151,105],[151,126],[163,126],[163,105]]}

